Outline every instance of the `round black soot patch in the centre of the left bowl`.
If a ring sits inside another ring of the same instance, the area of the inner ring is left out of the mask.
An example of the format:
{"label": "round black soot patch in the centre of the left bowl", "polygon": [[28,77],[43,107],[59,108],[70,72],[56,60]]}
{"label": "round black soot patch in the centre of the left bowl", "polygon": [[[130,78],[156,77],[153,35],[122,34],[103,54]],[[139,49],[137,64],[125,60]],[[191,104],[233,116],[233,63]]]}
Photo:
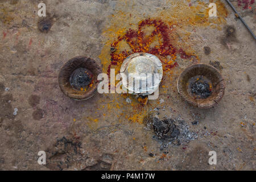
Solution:
{"label": "round black soot patch in the centre of the left bowl", "polygon": [[69,83],[73,89],[83,90],[92,82],[92,75],[90,75],[88,69],[77,68],[69,77]]}

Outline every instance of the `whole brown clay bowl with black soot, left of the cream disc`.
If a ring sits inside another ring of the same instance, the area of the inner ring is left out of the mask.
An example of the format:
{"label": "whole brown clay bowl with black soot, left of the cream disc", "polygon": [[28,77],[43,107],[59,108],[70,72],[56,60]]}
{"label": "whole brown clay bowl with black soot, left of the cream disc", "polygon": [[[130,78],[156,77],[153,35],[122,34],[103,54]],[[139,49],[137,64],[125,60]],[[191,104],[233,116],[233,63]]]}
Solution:
{"label": "whole brown clay bowl with black soot, left of the cream disc", "polygon": [[59,73],[61,91],[73,100],[87,100],[97,92],[97,76],[101,67],[89,57],[73,57]]}

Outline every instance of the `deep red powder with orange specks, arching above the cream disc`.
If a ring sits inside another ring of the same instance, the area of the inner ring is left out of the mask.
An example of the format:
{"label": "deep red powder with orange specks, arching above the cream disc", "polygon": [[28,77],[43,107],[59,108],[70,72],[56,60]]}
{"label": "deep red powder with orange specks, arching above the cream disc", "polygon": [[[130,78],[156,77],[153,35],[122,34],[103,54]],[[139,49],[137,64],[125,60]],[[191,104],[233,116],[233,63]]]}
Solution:
{"label": "deep red powder with orange specks, arching above the cream disc", "polygon": [[[143,32],[143,28],[146,26],[153,26],[155,27],[155,30],[151,32],[151,35],[146,37],[145,32]],[[110,75],[110,68],[112,65],[117,65],[118,63],[122,63],[123,60],[126,59],[129,55],[135,53],[135,52],[147,52],[151,53],[152,55],[156,55],[159,57],[166,57],[166,56],[172,56],[175,57],[176,53],[180,53],[180,56],[182,59],[188,59],[191,56],[187,55],[183,49],[179,49],[179,51],[172,46],[171,41],[170,41],[170,33],[171,29],[170,27],[162,22],[162,20],[156,20],[156,19],[146,19],[142,20],[138,24],[138,31],[129,29],[126,31],[126,34],[123,36],[119,36],[116,41],[114,41],[111,46],[113,48],[117,48],[119,42],[122,40],[125,40],[130,48],[131,51],[122,51],[121,53],[110,53],[111,56],[111,63],[108,67],[108,75]],[[150,44],[154,40],[154,37],[158,36],[159,37],[159,44],[160,46],[155,46],[155,47],[150,47]],[[161,60],[162,61],[162,60]],[[164,64],[163,67],[164,69],[171,69],[174,67],[177,67],[178,64],[175,62],[173,64],[170,63],[165,63],[162,61]]]}

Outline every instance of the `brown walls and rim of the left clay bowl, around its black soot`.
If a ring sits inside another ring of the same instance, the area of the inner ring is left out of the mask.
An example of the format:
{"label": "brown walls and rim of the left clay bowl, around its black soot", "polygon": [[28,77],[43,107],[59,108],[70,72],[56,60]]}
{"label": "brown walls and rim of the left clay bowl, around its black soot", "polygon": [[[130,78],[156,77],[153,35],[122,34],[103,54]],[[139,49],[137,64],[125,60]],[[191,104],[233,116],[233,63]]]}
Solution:
{"label": "brown walls and rim of the left clay bowl, around its black soot", "polygon": [[[74,74],[73,72],[79,68],[86,70],[86,74],[88,73],[91,77],[90,84],[88,84],[85,89],[81,88],[81,90],[74,88],[70,82],[70,78]],[[101,72],[100,65],[98,65],[93,59],[85,56],[73,57],[60,69],[60,89],[66,96],[73,100],[87,100],[97,92],[97,77]]]}

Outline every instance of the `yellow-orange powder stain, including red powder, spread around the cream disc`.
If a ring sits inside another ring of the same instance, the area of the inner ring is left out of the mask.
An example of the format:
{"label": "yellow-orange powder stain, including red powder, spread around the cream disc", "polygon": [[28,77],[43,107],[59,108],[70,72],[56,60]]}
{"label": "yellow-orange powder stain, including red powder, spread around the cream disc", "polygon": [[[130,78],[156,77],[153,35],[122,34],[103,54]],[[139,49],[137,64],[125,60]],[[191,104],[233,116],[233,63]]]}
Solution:
{"label": "yellow-orange powder stain, including red powder, spread around the cream disc", "polygon": [[[220,1],[210,1],[217,5],[217,17],[209,18],[209,3],[191,1],[167,1],[166,9],[154,11],[149,15],[139,14],[135,10],[126,10],[124,3],[130,1],[117,1],[115,14],[109,17],[106,30],[102,33],[105,38],[102,48],[101,63],[103,72],[109,73],[110,68],[115,68],[119,73],[123,60],[135,52],[151,53],[162,61],[163,80],[159,94],[166,93],[173,83],[172,74],[178,68],[176,60],[197,60],[199,56],[193,50],[195,46],[191,35],[196,28],[210,27],[220,30],[226,23],[228,10]],[[151,18],[148,18],[151,17]],[[188,31],[189,30],[189,31]],[[110,51],[112,49],[112,51]],[[171,89],[172,90],[172,89]],[[115,113],[119,121],[143,123],[147,116],[146,107],[142,100],[136,100],[129,94],[119,94],[113,101],[106,104],[106,113]],[[130,98],[131,103],[126,102]],[[149,101],[151,106],[158,106],[158,100]],[[121,107],[123,106],[123,107]],[[120,113],[123,113],[122,115]]]}

